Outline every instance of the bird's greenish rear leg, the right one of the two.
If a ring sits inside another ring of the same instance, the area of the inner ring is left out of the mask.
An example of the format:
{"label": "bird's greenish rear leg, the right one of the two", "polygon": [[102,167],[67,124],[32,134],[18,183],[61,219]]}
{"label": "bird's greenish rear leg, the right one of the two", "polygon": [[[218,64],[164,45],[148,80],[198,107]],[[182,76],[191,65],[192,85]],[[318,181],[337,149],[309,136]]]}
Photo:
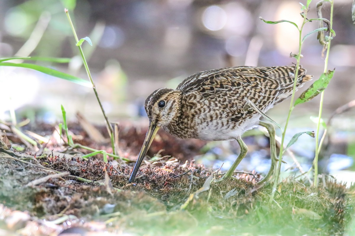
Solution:
{"label": "bird's greenish rear leg, the right one of the two", "polygon": [[275,176],[275,172],[277,171],[277,156],[276,156],[276,143],[275,143],[275,127],[271,123],[267,123],[264,121],[259,121],[259,125],[265,127],[269,133],[270,138],[270,156],[271,156],[271,167],[267,175],[260,180],[257,184],[262,184],[265,181],[269,180],[271,175]]}

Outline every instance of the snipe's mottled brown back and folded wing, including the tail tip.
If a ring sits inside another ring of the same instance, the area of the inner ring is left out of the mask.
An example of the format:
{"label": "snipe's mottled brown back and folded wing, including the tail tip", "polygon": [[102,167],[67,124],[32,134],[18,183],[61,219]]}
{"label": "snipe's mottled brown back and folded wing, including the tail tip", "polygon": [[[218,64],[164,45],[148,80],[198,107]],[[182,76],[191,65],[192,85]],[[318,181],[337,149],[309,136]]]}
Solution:
{"label": "snipe's mottled brown back and folded wing, including the tail tip", "polygon": [[[182,96],[195,94],[207,99],[215,108],[223,108],[240,115],[249,99],[259,109],[270,108],[292,94],[295,66],[284,67],[230,67],[202,71],[187,77],[177,87]],[[296,88],[312,79],[301,66]],[[255,112],[247,111],[247,116]],[[243,114],[244,116],[245,114]]]}

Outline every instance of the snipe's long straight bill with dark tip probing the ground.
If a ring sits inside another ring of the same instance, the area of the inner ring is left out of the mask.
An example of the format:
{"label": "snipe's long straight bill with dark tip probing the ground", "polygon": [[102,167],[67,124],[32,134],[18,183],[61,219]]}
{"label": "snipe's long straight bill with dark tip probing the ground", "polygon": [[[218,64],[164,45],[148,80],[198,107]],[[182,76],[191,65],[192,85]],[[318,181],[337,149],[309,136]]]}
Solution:
{"label": "snipe's long straight bill with dark tip probing the ground", "polygon": [[147,151],[149,147],[151,146],[153,139],[155,137],[155,134],[157,134],[160,126],[157,125],[157,123],[154,123],[152,120],[149,120],[149,128],[146,134],[146,138],[144,139],[143,146],[141,148],[141,152],[139,153],[138,159],[136,161],[136,164],[133,168],[130,180],[128,183],[132,183],[133,180],[136,178],[137,172],[139,170],[139,167],[141,166],[141,163],[144,159],[144,157],[147,154]]}

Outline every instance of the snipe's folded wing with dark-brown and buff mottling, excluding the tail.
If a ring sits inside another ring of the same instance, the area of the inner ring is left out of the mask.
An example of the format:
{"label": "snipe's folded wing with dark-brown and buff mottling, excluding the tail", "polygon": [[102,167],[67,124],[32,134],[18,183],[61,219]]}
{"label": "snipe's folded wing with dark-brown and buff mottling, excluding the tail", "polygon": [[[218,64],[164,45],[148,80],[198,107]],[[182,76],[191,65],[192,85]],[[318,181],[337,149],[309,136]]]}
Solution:
{"label": "snipe's folded wing with dark-brown and buff mottling, excluding the tail", "polygon": [[231,120],[240,120],[255,114],[255,110],[245,111],[247,100],[259,109],[268,107],[278,96],[281,89],[274,71],[269,76],[269,68],[232,67],[203,71],[182,81],[177,89],[183,96],[208,100],[211,106],[229,113]]}

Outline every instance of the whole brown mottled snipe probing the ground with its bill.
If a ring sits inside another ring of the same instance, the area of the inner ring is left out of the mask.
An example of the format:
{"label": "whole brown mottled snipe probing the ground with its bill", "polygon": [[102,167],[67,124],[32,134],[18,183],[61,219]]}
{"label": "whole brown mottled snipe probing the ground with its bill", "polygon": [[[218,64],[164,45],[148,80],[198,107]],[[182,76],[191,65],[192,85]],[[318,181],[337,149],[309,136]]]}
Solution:
{"label": "whole brown mottled snipe probing the ground with its bill", "polygon": [[[274,67],[238,66],[206,70],[183,80],[176,89],[159,88],[144,103],[149,127],[129,183],[137,175],[159,128],[178,138],[201,140],[237,140],[240,154],[222,178],[233,178],[233,173],[245,157],[247,146],[242,134],[257,125],[267,128],[270,137],[272,165],[263,183],[273,174],[278,161],[274,126],[260,118],[292,95],[296,65]],[[312,79],[300,65],[296,90]]]}

